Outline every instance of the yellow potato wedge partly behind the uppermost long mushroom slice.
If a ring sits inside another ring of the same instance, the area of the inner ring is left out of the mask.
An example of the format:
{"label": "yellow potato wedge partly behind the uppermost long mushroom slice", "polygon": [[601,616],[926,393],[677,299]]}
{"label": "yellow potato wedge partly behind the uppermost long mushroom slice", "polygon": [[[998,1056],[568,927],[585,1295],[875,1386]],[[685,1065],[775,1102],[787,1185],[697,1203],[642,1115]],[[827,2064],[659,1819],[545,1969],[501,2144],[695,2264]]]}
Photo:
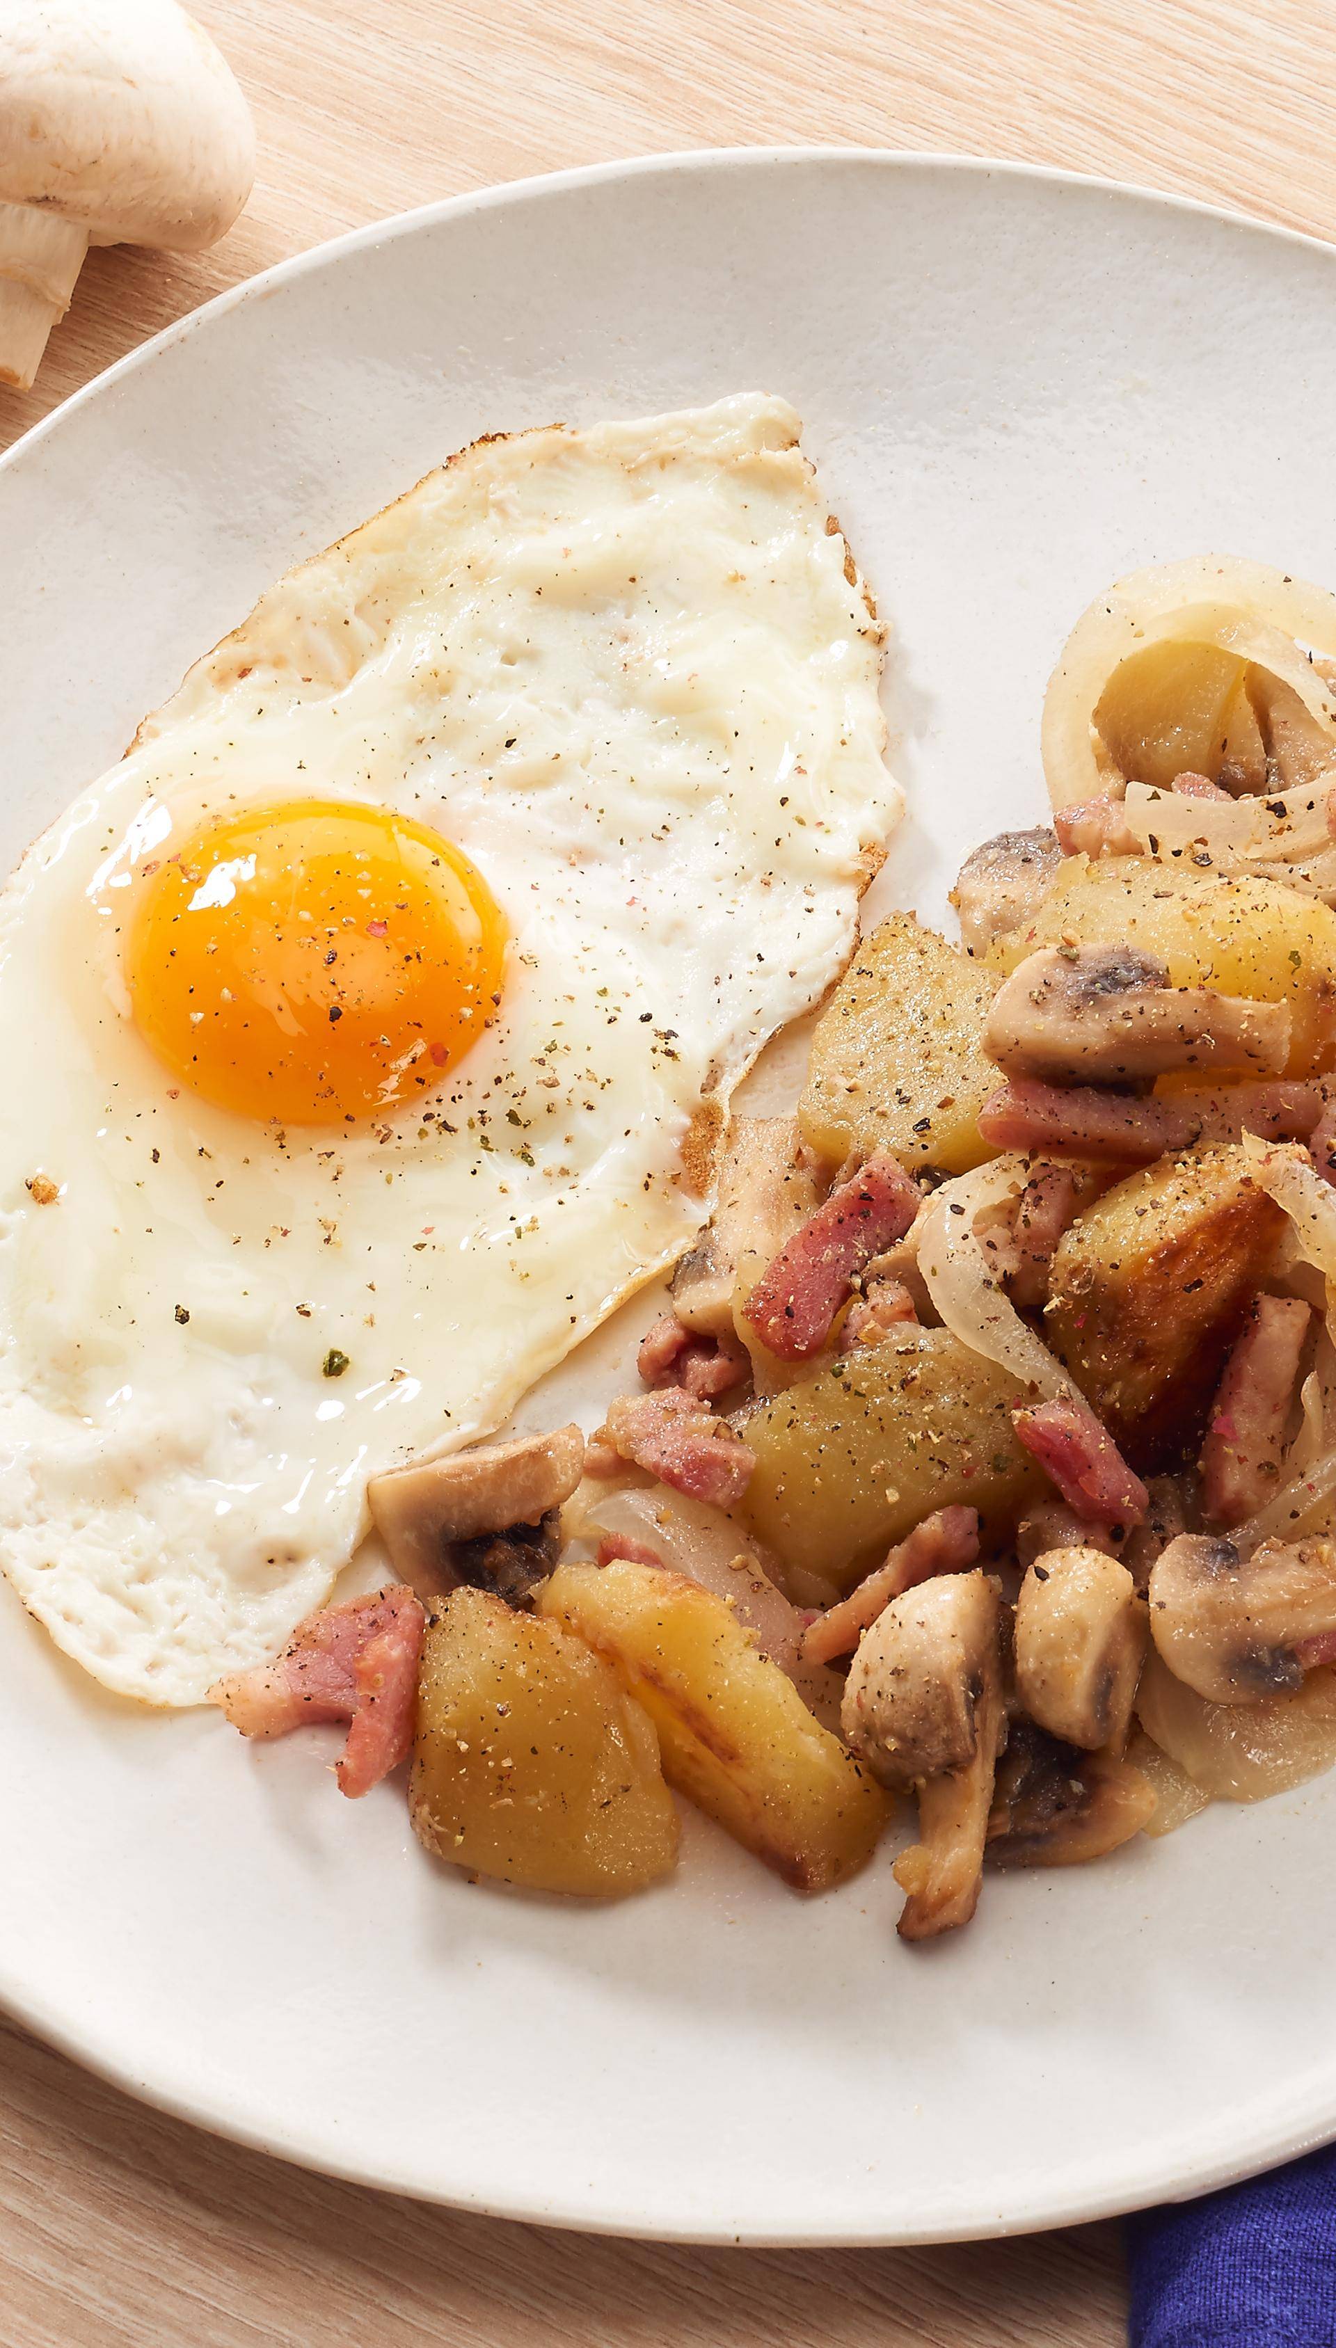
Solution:
{"label": "yellow potato wedge partly behind the uppermost long mushroom slice", "polygon": [[1289,1003],[1289,1073],[1336,1061],[1336,913],[1277,880],[1153,864],[1148,857],[1071,857],[1050,897],[988,960],[1005,972],[1064,937],[1134,944],[1169,965],[1174,986],[1212,986],[1254,1003]]}

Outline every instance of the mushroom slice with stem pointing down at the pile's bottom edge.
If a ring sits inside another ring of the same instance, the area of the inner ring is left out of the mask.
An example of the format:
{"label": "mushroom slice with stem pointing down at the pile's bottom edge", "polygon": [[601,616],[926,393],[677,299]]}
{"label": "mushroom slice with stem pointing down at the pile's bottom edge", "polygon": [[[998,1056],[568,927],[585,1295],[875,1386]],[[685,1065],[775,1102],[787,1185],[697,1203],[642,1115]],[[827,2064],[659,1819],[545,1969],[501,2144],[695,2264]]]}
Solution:
{"label": "mushroom slice with stem pointing down at the pile's bottom edge", "polygon": [[841,1723],[873,1777],[918,1792],[920,1841],[895,1864],[909,1892],[902,1939],[970,1923],[1007,1733],[993,1583],[979,1571],[949,1573],[895,1599],[855,1655]]}

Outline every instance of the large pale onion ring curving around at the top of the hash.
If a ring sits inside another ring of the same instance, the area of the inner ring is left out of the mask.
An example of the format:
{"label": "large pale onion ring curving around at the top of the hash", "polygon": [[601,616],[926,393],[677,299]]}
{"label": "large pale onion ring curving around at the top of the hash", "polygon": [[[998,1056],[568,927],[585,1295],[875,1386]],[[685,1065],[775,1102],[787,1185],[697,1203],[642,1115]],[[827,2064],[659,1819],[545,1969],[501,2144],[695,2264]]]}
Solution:
{"label": "large pale onion ring curving around at the top of the hash", "polygon": [[1094,711],[1125,660],[1174,643],[1214,648],[1240,662],[1240,676],[1251,662],[1291,686],[1336,758],[1336,700],[1305,657],[1336,653],[1336,596],[1268,564],[1200,554],[1134,571],[1075,622],[1045,695],[1043,761],[1054,808],[1080,805],[1122,780]]}

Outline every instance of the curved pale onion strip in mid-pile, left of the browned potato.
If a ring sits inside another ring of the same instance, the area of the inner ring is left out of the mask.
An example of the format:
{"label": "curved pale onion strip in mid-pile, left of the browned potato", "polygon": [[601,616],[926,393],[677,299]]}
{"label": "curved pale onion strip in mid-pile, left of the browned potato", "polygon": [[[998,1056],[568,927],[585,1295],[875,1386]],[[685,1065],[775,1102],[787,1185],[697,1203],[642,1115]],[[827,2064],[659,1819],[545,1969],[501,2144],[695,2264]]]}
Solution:
{"label": "curved pale onion strip in mid-pile, left of the browned potato", "polygon": [[1010,1369],[1021,1385],[1035,1385],[1045,1402],[1057,1402],[1059,1395],[1080,1399],[1047,1345],[1003,1294],[974,1228],[988,1209],[1024,1190],[1031,1172],[1028,1158],[1010,1151],[972,1174],[944,1181],[909,1237],[916,1242],[923,1284],[951,1336],[970,1345],[970,1352]]}

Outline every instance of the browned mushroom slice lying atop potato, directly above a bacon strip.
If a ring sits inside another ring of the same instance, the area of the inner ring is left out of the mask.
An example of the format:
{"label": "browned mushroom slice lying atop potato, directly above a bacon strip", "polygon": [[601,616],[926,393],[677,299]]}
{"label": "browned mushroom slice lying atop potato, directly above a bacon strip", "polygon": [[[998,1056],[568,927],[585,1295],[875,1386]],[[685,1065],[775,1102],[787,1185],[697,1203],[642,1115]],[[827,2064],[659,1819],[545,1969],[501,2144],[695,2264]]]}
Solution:
{"label": "browned mushroom slice lying atop potato, directly above a bacon strip", "polygon": [[984,1050],[1007,1075],[1127,1085],[1169,1068],[1275,1075],[1289,1057],[1289,1007],[1169,986],[1136,946],[1045,946],[993,998]]}

